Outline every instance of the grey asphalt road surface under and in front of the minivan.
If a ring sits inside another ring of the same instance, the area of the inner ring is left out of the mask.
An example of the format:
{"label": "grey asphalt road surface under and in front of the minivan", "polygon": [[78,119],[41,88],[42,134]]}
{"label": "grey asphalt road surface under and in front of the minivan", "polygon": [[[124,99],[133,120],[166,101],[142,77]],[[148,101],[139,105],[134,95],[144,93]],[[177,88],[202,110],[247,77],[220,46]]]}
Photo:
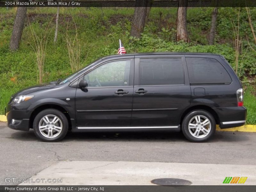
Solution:
{"label": "grey asphalt road surface under and in front of the minivan", "polygon": [[0,123],[0,185],[17,184],[6,177],[27,179],[66,161],[256,165],[255,148],[256,133],[247,132],[216,132],[205,143],[189,142],[181,132],[69,132],[60,142],[46,143],[33,130]]}

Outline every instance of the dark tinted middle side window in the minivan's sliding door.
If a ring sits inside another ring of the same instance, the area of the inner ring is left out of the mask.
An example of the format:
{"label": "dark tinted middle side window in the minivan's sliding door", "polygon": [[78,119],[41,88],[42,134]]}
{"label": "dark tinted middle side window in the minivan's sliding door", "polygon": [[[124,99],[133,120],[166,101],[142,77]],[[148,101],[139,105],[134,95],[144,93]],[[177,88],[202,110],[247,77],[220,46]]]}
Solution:
{"label": "dark tinted middle side window in the minivan's sliding door", "polygon": [[139,84],[184,84],[184,72],[181,58],[140,59]]}

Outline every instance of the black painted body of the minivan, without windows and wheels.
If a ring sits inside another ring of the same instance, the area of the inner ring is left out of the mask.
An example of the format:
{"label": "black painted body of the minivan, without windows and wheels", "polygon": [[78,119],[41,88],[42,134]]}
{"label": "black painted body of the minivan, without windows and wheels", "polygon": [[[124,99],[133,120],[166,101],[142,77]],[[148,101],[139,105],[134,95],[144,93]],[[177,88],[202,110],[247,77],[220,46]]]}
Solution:
{"label": "black painted body of the minivan, without windows and wheels", "polygon": [[[213,58],[218,60],[232,79],[230,84],[189,83],[186,57]],[[139,62],[141,58],[181,58],[184,68],[184,84],[139,85]],[[123,87],[79,88],[81,76],[112,60],[131,60],[130,81]],[[44,84],[23,89],[12,96],[7,105],[8,126],[28,131],[33,119],[45,108],[57,108],[65,113],[72,131],[78,127],[161,127],[178,126],[184,115],[192,109],[204,109],[212,113],[221,128],[241,126],[244,123],[222,124],[222,122],[244,121],[246,108],[237,107],[236,90],[241,83],[234,70],[220,55],[204,53],[141,53],[114,55],[101,58],[86,67],[64,84]],[[127,94],[115,92],[127,91]],[[146,90],[145,93],[136,93]],[[34,95],[28,101],[13,104],[19,95]],[[69,98],[70,100],[67,100]],[[21,120],[13,125],[12,119]],[[100,129],[97,129],[100,130]],[[116,130],[116,129],[115,129]]]}

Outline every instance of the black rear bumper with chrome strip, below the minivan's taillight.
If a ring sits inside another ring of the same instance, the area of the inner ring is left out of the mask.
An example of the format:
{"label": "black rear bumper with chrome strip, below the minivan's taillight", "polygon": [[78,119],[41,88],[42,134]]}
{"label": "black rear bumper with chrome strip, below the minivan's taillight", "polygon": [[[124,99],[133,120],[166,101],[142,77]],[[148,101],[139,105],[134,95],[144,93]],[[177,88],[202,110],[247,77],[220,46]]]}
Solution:
{"label": "black rear bumper with chrome strip, below the minivan's taillight", "polygon": [[213,108],[219,116],[220,128],[239,127],[246,122],[245,107],[225,107],[225,108]]}

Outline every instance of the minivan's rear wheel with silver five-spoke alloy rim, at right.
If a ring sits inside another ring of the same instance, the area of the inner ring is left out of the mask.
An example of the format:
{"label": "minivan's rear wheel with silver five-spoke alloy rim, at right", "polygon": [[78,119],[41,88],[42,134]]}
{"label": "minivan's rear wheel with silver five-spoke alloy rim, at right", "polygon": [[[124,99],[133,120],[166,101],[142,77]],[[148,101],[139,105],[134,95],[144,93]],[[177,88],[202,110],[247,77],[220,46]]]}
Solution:
{"label": "minivan's rear wheel with silver five-spoke alloy rim, at right", "polygon": [[188,140],[204,142],[213,136],[216,122],[208,111],[194,110],[183,118],[181,130]]}

